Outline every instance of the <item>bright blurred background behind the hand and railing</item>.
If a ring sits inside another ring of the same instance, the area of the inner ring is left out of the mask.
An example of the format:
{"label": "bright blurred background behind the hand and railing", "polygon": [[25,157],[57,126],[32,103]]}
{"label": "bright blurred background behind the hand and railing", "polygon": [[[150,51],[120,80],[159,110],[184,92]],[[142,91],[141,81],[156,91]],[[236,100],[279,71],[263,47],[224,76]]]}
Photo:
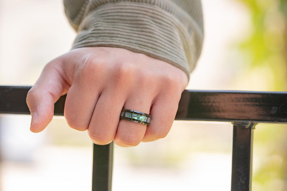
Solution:
{"label": "bright blurred background behind the hand and railing", "polygon": [[[205,40],[186,89],[287,90],[286,0],[202,0]],[[0,85],[31,86],[76,33],[59,0],[0,0]],[[0,115],[1,191],[91,190],[87,132]],[[253,191],[287,190],[287,128],[254,132]],[[164,139],[115,146],[113,190],[230,190],[232,125],[175,121]]]}

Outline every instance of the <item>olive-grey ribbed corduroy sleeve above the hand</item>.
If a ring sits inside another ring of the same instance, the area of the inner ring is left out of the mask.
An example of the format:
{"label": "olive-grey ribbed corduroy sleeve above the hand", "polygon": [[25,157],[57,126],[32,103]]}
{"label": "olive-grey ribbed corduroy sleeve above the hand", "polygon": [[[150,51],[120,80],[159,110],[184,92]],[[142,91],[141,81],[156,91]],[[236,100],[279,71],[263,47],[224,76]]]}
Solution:
{"label": "olive-grey ribbed corduroy sleeve above the hand", "polygon": [[118,47],[181,68],[190,77],[203,43],[200,0],[64,0],[78,32],[72,49]]}

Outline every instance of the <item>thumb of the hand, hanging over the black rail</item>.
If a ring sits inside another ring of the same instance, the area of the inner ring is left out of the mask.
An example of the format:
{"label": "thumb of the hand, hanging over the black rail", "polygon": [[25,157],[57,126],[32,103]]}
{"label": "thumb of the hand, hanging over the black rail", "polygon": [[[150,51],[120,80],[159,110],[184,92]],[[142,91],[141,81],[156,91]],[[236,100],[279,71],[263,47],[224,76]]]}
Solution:
{"label": "thumb of the hand, hanging over the black rail", "polygon": [[54,116],[54,103],[69,89],[60,59],[48,63],[26,97],[32,119],[30,131],[43,131]]}

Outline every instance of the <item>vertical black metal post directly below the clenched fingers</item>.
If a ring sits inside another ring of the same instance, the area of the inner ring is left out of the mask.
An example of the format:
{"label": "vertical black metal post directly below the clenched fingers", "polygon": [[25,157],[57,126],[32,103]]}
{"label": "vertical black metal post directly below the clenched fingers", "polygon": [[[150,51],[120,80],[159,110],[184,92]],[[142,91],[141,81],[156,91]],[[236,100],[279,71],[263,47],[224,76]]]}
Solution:
{"label": "vertical black metal post directly below the clenched fingers", "polygon": [[94,144],[92,191],[111,191],[113,173],[113,142]]}

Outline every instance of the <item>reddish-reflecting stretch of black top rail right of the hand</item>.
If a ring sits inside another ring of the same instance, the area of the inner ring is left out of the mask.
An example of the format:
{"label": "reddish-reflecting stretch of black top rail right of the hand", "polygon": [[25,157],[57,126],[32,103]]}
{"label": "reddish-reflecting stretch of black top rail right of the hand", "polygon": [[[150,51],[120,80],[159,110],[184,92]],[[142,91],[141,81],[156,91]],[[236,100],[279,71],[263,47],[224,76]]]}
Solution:
{"label": "reddish-reflecting stretch of black top rail right of the hand", "polygon": [[185,90],[176,119],[287,123],[287,92]]}

